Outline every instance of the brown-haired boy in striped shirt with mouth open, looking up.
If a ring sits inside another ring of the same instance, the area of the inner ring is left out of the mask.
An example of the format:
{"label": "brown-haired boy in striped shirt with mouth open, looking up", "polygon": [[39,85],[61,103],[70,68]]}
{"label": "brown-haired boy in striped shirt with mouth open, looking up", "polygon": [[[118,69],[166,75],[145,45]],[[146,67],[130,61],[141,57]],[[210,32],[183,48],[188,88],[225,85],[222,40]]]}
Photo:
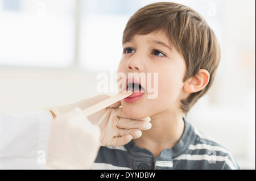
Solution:
{"label": "brown-haired boy in striped shirt with mouth open, looking up", "polygon": [[183,117],[212,85],[219,61],[216,36],[194,10],[170,2],[138,10],[123,32],[118,72],[158,73],[158,97],[146,90],[121,103],[131,119],[150,116],[152,127],[124,146],[102,146],[92,169],[240,169]]}

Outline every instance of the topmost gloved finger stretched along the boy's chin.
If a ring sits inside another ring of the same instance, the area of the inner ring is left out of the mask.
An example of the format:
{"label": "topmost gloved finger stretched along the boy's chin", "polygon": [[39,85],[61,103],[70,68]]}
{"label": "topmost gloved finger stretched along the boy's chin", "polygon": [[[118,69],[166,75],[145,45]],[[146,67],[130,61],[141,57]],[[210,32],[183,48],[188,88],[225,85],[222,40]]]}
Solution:
{"label": "topmost gloved finger stretched along the boy's chin", "polygon": [[126,118],[120,118],[117,124],[118,128],[139,130],[147,130],[152,126],[151,123],[145,120],[131,120]]}

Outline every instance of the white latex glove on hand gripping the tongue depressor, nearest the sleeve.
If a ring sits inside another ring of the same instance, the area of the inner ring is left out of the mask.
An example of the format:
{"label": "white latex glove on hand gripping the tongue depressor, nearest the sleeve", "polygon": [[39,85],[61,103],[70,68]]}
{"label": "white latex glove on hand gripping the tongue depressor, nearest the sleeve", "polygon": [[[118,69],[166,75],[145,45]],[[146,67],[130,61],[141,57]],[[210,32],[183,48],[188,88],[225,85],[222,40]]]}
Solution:
{"label": "white latex glove on hand gripping the tongue depressor, nearest the sleeve", "polygon": [[80,108],[52,121],[46,169],[90,169],[100,148],[100,129]]}

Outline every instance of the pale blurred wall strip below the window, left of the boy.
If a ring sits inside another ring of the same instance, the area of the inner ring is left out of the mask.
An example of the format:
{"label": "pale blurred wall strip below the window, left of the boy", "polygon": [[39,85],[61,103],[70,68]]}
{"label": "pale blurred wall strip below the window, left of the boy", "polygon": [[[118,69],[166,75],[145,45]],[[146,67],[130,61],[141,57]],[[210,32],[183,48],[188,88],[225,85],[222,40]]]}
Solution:
{"label": "pale blurred wall strip below the window, left of the boy", "polygon": [[96,73],[80,69],[0,66],[0,107],[20,113],[76,102],[98,95],[98,81]]}

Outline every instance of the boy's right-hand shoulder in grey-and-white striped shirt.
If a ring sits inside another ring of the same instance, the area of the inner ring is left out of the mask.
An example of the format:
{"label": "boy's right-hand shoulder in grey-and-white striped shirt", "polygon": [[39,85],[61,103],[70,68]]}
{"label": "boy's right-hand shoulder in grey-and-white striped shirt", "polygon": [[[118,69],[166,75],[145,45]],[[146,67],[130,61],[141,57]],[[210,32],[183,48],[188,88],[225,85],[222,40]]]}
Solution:
{"label": "boy's right-hand shoulder in grey-and-white striped shirt", "polygon": [[193,131],[196,136],[188,147],[189,157],[205,161],[205,169],[240,169],[236,159],[224,146],[206,134],[199,132],[195,127],[193,127]]}

